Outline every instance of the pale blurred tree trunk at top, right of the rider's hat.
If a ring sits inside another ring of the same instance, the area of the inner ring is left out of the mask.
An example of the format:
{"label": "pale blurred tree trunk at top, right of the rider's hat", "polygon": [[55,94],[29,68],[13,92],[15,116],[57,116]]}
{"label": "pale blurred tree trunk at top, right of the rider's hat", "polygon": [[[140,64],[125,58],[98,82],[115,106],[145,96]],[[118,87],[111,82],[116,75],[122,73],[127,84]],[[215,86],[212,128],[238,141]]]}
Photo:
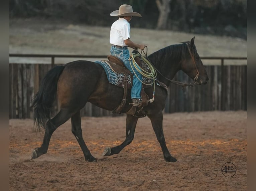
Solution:
{"label": "pale blurred tree trunk at top, right of the rider's hat", "polygon": [[167,19],[170,13],[171,0],[156,0],[156,5],[159,11],[156,29],[166,29]]}

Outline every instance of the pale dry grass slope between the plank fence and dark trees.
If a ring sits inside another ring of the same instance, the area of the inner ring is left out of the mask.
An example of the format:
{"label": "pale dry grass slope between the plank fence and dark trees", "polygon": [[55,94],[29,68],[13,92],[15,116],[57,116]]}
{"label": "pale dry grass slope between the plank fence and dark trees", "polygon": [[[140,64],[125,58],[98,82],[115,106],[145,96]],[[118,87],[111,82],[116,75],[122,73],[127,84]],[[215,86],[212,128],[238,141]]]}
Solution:
{"label": "pale dry grass slope between the plank fence and dark trees", "polygon": [[[10,53],[23,54],[72,54],[109,55],[110,26],[87,26],[58,20],[11,19]],[[199,35],[166,30],[133,28],[131,40],[148,46],[148,54],[172,44],[190,41],[196,36],[195,45],[201,57],[247,57],[247,41],[240,38]],[[130,49],[132,50],[132,49]],[[57,58],[55,63],[74,59]],[[102,60],[86,59],[86,60]],[[10,63],[50,63],[50,59],[10,58]],[[203,60],[205,65],[220,64],[220,60]],[[247,61],[225,60],[225,64],[247,64]]]}

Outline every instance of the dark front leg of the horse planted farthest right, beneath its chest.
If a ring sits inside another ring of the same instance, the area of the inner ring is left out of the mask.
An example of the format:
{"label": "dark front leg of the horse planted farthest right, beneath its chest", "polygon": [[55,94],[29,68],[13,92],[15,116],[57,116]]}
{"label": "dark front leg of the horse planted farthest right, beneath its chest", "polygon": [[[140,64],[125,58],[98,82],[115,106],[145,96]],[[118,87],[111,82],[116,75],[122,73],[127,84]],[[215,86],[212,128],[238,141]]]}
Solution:
{"label": "dark front leg of the horse planted farthest right, beneath its chest", "polygon": [[151,120],[153,129],[155,131],[156,138],[160,143],[161,149],[163,151],[163,157],[167,162],[176,162],[177,159],[172,157],[166,146],[164,135],[163,135],[163,113],[160,111],[157,114],[152,114],[148,116]]}

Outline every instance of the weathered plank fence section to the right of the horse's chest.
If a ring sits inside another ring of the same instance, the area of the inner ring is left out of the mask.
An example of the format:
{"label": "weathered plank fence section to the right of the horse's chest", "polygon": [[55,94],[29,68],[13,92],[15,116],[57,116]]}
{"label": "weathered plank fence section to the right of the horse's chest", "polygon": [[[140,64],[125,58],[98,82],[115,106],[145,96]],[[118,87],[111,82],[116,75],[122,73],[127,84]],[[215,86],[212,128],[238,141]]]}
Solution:
{"label": "weathered plank fence section to the right of the horse's chest", "polygon": [[[171,84],[165,112],[247,110],[247,66],[205,66],[210,80],[206,85],[184,89]],[[179,71],[174,80],[191,79]]]}

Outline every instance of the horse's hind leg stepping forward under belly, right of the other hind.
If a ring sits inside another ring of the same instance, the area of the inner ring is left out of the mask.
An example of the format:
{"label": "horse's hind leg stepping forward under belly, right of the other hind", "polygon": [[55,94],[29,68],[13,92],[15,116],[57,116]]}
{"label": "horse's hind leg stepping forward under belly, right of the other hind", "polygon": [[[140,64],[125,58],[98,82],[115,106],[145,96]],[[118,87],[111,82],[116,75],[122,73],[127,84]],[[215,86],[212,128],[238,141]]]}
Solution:
{"label": "horse's hind leg stepping forward under belly, right of the other hind", "polygon": [[71,117],[71,123],[72,123],[72,133],[75,135],[75,137],[84,153],[85,160],[89,161],[89,162],[96,161],[96,158],[94,158],[92,156],[91,152],[87,148],[85,141],[83,139],[80,110]]}

